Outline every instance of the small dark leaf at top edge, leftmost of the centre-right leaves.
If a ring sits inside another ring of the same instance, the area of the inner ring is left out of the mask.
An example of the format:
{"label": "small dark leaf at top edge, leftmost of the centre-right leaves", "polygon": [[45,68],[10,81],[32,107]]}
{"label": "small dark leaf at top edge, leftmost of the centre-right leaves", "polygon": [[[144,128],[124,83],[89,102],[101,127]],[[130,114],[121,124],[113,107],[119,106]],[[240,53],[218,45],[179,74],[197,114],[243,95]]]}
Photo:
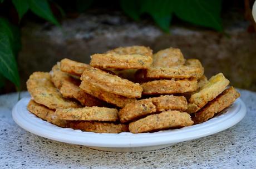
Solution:
{"label": "small dark leaf at top edge, leftmost of the centre-right leaves", "polygon": [[136,0],[121,0],[120,6],[122,10],[135,21],[140,20],[140,1]]}

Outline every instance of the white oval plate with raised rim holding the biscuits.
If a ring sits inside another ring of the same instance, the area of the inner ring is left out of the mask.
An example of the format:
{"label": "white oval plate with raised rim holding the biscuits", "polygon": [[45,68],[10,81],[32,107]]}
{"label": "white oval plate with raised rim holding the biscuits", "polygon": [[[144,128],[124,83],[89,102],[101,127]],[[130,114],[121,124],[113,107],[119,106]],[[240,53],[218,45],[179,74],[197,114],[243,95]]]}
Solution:
{"label": "white oval plate with raised rim holding the biscuits", "polygon": [[83,145],[105,151],[149,151],[168,147],[175,143],[213,135],[237,124],[245,116],[246,108],[238,98],[225,109],[225,113],[199,125],[154,133],[119,134],[83,132],[72,128],[61,128],[27,111],[30,98],[22,98],[12,110],[13,120],[24,130],[35,135],[60,142]]}

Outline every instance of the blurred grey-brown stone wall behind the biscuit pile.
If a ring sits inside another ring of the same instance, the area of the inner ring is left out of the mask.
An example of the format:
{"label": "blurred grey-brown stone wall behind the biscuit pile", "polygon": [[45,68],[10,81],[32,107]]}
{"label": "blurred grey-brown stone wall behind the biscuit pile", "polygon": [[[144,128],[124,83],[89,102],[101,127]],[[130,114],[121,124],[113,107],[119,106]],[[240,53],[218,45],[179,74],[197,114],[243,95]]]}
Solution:
{"label": "blurred grey-brown stone wall behind the biscuit pile", "polygon": [[34,71],[50,71],[62,58],[88,63],[90,54],[119,46],[145,45],[154,52],[178,47],[186,58],[199,58],[206,76],[223,72],[235,87],[256,91],[256,34],[243,19],[225,22],[224,32],[172,26],[166,34],[147,21],[134,22],[121,14],[84,14],[66,19],[61,27],[28,22],[22,28],[18,56],[22,88]]}

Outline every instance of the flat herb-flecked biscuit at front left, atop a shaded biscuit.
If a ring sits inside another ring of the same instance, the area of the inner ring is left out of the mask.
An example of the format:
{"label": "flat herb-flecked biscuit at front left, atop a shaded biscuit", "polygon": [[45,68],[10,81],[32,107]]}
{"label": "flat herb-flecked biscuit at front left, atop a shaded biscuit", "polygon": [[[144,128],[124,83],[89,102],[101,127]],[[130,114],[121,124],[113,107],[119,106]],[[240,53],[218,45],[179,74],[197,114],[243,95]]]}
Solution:
{"label": "flat herb-flecked biscuit at front left, atop a shaded biscuit", "polygon": [[82,107],[82,108],[57,108],[55,113],[61,120],[85,121],[112,121],[119,120],[116,108],[107,107]]}

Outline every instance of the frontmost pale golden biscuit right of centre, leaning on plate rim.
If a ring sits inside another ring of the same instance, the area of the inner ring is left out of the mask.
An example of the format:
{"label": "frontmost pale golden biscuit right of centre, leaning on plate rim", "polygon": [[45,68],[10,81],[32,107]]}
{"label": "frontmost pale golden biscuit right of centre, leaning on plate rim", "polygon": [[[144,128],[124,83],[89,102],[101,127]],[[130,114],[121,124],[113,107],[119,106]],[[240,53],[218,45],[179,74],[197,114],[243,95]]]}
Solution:
{"label": "frontmost pale golden biscuit right of centre, leaning on plate rim", "polygon": [[144,133],[191,125],[193,125],[193,121],[188,113],[166,111],[131,122],[129,124],[129,130],[132,133]]}

